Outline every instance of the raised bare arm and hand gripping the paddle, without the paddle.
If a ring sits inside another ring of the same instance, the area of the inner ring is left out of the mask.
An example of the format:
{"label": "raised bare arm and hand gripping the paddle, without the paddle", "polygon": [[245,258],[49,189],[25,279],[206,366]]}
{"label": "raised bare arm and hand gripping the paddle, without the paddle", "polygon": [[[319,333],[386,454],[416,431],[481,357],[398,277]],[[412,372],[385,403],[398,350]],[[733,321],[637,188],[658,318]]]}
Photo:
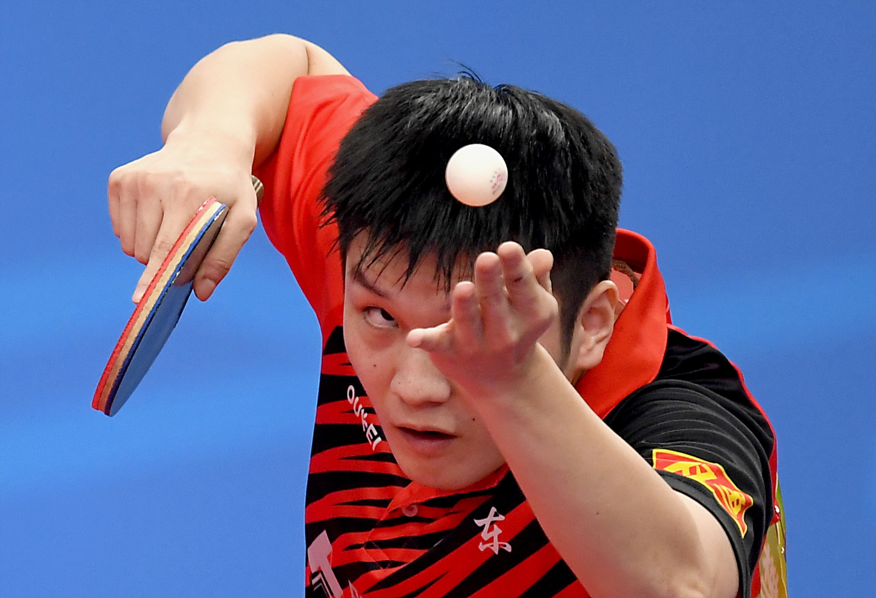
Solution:
{"label": "raised bare arm and hand gripping the paddle, without the paddle", "polygon": [[188,219],[208,197],[230,207],[219,238],[195,276],[207,299],[256,226],[250,183],[279,143],[294,81],[348,74],[303,39],[271,35],[232,42],[201,59],[167,105],[159,151],[109,175],[109,215],[122,250],[146,264],[137,301]]}

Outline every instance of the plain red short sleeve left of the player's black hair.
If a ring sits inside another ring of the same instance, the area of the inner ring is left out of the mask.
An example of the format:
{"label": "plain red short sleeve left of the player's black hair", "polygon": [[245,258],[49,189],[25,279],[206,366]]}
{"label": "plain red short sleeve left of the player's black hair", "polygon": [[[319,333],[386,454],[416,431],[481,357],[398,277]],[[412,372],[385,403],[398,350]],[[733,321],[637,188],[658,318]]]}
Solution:
{"label": "plain red short sleeve left of the player's black hair", "polygon": [[277,151],[255,172],[265,185],[259,208],[265,232],[321,323],[343,305],[336,228],[322,226],[322,187],[341,139],[376,99],[349,75],[299,77]]}

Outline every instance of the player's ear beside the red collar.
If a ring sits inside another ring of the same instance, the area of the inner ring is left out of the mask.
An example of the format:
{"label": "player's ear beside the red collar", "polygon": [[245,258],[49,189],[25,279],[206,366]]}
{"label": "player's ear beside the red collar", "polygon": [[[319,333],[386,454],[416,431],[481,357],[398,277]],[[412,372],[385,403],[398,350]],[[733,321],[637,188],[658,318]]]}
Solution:
{"label": "player's ear beside the red collar", "polygon": [[602,361],[611,332],[614,330],[614,307],[618,304],[618,287],[611,280],[603,280],[587,295],[578,312],[572,333],[569,363],[573,371],[593,369]]}

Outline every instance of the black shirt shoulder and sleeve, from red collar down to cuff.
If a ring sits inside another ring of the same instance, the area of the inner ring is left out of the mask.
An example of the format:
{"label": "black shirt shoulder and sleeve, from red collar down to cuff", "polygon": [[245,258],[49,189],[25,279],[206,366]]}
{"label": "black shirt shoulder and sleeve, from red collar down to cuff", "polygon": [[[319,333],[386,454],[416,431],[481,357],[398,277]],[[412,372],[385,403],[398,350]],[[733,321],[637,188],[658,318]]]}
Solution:
{"label": "black shirt shoulder and sleeve, from red collar down to cuff", "polygon": [[733,363],[709,342],[670,327],[658,375],[605,423],[669,486],[717,517],[736,552],[741,585],[749,587],[774,515],[775,439]]}

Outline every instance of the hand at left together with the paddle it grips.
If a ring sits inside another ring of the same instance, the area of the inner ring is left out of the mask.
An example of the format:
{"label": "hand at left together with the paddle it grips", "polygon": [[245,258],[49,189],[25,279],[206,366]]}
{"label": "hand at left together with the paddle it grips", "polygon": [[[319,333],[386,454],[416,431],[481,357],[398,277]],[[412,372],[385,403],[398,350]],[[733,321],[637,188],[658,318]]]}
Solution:
{"label": "hand at left together with the paddle it grips", "polygon": [[171,134],[161,150],[110,174],[113,232],[146,268],[132,297],[137,307],[97,384],[95,409],[114,415],[124,405],[193,289],[207,299],[228,273],[257,222],[262,184],[251,164],[252,151],[230,137]]}

